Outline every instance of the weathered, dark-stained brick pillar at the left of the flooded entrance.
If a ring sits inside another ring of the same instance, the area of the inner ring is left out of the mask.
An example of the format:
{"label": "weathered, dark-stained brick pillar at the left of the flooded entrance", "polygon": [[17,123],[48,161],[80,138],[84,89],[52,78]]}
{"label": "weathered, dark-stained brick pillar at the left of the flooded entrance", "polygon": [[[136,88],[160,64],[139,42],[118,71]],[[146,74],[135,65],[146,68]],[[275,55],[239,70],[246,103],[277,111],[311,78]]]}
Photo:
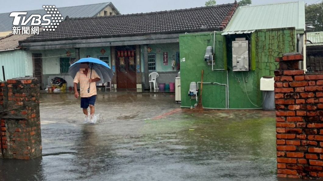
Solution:
{"label": "weathered, dark-stained brick pillar at the left of the flooded entrance", "polygon": [[[39,82],[36,78],[10,79],[0,84],[3,158],[31,159],[42,155]],[[0,146],[1,147],[1,146]]]}

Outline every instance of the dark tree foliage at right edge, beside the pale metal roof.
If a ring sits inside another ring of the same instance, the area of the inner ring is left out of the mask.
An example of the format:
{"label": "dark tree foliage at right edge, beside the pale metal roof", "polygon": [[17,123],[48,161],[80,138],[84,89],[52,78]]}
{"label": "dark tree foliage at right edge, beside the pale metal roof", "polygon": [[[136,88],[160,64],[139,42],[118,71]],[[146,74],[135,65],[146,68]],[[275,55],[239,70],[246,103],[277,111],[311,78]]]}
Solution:
{"label": "dark tree foliage at right edge, beside the pale metal roof", "polygon": [[305,21],[313,22],[313,31],[323,31],[323,1],[305,6]]}

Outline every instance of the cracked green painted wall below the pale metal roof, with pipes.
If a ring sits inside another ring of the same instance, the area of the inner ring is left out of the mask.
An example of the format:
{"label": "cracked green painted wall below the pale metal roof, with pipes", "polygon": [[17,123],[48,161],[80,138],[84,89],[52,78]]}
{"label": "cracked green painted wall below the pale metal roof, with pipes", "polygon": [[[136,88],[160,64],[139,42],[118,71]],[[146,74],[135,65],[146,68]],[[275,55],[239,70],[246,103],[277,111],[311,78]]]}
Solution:
{"label": "cracked green painted wall below the pale metal roof, with pipes", "polygon": [[[245,37],[249,42],[255,43],[255,45],[251,45],[253,51],[249,51],[249,56],[253,57],[250,58],[249,66],[254,67],[255,71],[232,71],[231,42],[237,37]],[[181,62],[182,106],[191,107],[196,103],[188,96],[188,90],[190,82],[201,81],[202,69],[204,70],[204,82],[223,84],[227,82],[226,71],[211,71],[211,66],[203,61],[206,47],[213,46],[211,38],[213,38],[213,35],[211,37],[210,33],[180,36],[180,56],[181,59],[185,58],[185,62]],[[224,46],[224,42],[226,42],[226,46]],[[274,70],[277,69],[275,57],[281,56],[285,52],[295,52],[296,32],[295,29],[259,30],[252,33],[251,37],[250,34],[224,37],[221,33],[217,33],[215,44],[215,69],[225,68],[225,60],[227,59],[229,108],[257,108],[255,105],[259,106],[262,103],[262,92],[259,90],[260,78],[264,75],[274,76]],[[249,101],[247,95],[255,105]],[[225,108],[225,87],[204,84],[202,100],[203,107]]]}

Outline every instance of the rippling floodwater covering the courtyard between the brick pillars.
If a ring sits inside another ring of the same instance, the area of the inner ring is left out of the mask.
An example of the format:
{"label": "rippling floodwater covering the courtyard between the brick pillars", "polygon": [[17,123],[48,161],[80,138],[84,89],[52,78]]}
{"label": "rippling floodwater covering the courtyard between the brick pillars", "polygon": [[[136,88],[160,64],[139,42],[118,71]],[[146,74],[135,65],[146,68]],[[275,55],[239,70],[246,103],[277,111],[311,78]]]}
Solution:
{"label": "rippling floodwater covering the courtyard between the brick pillars", "polygon": [[90,125],[74,94],[41,94],[43,157],[0,160],[0,180],[277,180],[274,111],[174,102],[98,94]]}

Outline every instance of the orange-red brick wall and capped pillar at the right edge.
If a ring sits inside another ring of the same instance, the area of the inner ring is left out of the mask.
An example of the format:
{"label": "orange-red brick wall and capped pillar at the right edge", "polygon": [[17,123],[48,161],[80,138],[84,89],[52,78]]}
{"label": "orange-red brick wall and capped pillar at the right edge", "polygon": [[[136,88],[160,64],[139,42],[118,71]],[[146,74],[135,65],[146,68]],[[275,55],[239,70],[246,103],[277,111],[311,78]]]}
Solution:
{"label": "orange-red brick wall and capped pillar at the right edge", "polygon": [[323,74],[298,69],[303,55],[276,58],[277,176],[323,178]]}

